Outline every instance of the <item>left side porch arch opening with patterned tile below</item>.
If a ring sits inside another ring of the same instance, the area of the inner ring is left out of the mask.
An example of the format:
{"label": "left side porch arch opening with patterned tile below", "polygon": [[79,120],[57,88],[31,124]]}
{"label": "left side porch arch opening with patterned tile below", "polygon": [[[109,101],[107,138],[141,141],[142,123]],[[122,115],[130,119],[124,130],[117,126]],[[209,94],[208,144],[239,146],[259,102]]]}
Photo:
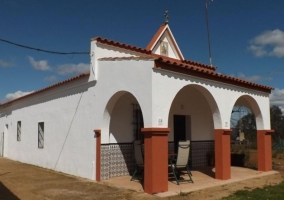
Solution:
{"label": "left side porch arch opening with patterned tile below", "polygon": [[[107,102],[101,129],[101,154],[97,155],[101,157],[101,180],[133,173],[135,163],[132,142],[136,139],[133,132],[133,109],[138,107],[138,100],[128,91],[116,92]],[[142,109],[139,111],[142,112]],[[141,117],[143,122],[143,114]]]}

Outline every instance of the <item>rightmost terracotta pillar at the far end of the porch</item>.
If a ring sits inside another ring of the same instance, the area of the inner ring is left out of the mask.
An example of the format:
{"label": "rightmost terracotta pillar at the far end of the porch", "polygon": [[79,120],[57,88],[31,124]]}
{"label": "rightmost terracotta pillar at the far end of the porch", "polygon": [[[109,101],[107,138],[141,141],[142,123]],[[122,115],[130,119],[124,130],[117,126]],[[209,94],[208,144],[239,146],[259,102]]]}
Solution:
{"label": "rightmost terracotta pillar at the far end of the porch", "polygon": [[272,170],[271,133],[274,130],[257,130],[257,165],[258,171]]}

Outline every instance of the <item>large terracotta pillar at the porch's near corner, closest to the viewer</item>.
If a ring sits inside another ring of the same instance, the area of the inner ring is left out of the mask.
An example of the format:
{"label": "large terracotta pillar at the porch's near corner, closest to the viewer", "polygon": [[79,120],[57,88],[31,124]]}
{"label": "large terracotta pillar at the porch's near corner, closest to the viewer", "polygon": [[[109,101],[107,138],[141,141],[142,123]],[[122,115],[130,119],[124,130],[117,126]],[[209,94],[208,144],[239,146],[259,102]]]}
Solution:
{"label": "large terracotta pillar at the porch's near corner, closest to the viewer", "polygon": [[144,191],[168,191],[169,128],[142,128],[144,133]]}

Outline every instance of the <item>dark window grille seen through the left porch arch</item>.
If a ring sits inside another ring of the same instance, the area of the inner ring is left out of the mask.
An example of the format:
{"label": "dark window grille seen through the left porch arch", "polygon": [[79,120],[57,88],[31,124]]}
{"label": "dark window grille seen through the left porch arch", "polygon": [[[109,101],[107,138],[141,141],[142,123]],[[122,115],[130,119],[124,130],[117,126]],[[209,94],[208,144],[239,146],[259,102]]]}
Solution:
{"label": "dark window grille seen through the left porch arch", "polygon": [[132,104],[133,107],[133,119],[132,119],[132,125],[133,125],[133,135],[135,140],[142,140],[144,139],[143,134],[141,132],[141,128],[144,127],[143,122],[143,115],[141,108],[139,104]]}

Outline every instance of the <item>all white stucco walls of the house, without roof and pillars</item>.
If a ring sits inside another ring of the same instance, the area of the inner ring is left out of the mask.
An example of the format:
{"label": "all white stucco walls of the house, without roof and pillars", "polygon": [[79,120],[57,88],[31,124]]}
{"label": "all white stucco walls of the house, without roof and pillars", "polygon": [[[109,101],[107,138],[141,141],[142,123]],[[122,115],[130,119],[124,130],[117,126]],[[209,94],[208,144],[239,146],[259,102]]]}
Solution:
{"label": "all white stucco walls of the house, without roof and pillars", "polygon": [[[211,140],[214,128],[230,128],[231,111],[236,102],[247,104],[255,111],[258,129],[270,129],[266,93],[153,69],[153,60],[97,60],[139,55],[93,41],[90,77],[1,108],[4,155],[92,179],[96,170],[93,130],[102,130],[102,144],[131,142],[133,102],[139,103],[142,109],[144,127],[171,128],[170,141],[174,114],[190,116],[191,130],[187,131],[191,132],[192,140]],[[20,142],[17,121],[22,123]],[[39,122],[44,122],[43,149],[37,144]]]}

